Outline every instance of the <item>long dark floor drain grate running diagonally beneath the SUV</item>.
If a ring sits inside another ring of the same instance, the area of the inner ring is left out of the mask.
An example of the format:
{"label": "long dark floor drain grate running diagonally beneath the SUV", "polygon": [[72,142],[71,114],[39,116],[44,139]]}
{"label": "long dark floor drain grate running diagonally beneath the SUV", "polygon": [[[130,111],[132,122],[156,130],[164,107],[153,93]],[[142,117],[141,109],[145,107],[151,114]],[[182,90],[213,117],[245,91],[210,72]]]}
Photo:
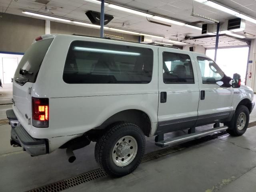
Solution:
{"label": "long dark floor drain grate running diagonally beneath the SUV", "polygon": [[[248,127],[256,126],[256,122],[251,122],[248,124]],[[148,162],[150,160],[154,160],[157,158],[160,158],[162,156],[170,155],[172,153],[190,148],[192,146],[196,146],[198,144],[202,144],[204,142],[214,140],[216,138],[222,137],[228,135],[225,131],[224,132],[217,132],[208,136],[204,136],[202,138],[198,138],[196,140],[191,140],[176,146],[163,148],[154,152],[150,152],[148,154],[145,154],[142,158],[142,163]],[[106,176],[106,173],[101,169],[92,170],[83,174],[80,174],[78,176],[74,176],[72,178],[68,178],[65,180],[61,180],[43,187],[35,188],[33,190],[30,190],[28,192],[60,192],[62,190],[71,188],[73,186],[89,182],[91,180],[101,178]]]}

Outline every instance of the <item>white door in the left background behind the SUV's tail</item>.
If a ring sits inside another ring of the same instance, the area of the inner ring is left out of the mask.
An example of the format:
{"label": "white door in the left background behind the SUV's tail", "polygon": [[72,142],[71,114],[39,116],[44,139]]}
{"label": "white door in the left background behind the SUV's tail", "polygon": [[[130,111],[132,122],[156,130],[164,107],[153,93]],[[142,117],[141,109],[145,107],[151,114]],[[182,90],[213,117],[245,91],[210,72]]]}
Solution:
{"label": "white door in the left background behind the SUV's tail", "polygon": [[3,84],[12,84],[12,78],[18,66],[18,58],[2,58]]}

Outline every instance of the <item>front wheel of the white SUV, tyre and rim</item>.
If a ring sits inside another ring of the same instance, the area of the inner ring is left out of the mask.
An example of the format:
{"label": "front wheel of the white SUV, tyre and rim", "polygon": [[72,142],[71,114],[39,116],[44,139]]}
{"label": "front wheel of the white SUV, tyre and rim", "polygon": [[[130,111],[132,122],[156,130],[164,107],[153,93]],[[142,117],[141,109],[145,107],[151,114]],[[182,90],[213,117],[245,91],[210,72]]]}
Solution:
{"label": "front wheel of the white SUV, tyre and rim", "polygon": [[250,118],[249,110],[246,106],[240,105],[232,120],[224,125],[228,126],[227,132],[232,136],[240,136],[246,132]]}

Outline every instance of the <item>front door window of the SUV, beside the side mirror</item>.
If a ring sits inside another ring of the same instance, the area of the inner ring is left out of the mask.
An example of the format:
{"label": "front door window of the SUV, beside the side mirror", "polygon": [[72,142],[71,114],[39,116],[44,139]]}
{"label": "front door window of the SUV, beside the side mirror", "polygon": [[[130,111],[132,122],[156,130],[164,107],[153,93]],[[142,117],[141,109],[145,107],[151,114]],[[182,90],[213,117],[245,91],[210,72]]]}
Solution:
{"label": "front door window of the SUV, beside the side mirror", "polygon": [[222,81],[224,73],[214,61],[204,57],[197,57],[197,59],[203,84],[216,84]]}

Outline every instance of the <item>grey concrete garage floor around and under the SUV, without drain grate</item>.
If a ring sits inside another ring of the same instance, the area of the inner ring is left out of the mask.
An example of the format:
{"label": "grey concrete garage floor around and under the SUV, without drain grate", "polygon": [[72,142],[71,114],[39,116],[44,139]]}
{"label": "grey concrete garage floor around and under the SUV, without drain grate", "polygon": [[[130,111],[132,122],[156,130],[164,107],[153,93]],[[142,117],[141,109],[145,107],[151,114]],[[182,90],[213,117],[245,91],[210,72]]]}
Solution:
{"label": "grey concrete garage floor around and under the SUV, without drain grate", "polygon": [[[0,105],[0,120],[11,105]],[[256,110],[250,122],[256,121]],[[209,128],[204,126],[198,129]],[[176,134],[184,134],[178,132]],[[256,192],[256,127],[240,137],[223,136],[141,164],[123,178],[104,176],[64,192],[173,191]],[[146,153],[160,150],[147,138]],[[10,146],[10,126],[0,121],[0,192],[23,192],[98,168],[94,143],[75,151],[68,163],[65,150],[30,157]]]}

